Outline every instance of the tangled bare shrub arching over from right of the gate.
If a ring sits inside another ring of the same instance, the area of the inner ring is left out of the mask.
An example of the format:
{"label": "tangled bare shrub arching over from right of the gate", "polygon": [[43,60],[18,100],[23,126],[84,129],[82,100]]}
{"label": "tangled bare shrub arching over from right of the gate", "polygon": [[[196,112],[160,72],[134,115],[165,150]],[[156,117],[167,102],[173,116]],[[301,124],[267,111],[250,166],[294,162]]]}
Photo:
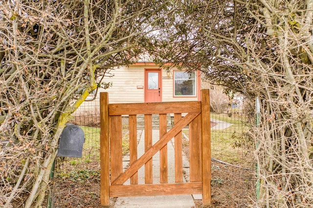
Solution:
{"label": "tangled bare shrub arching over from right of the gate", "polygon": [[180,13],[176,30],[164,31],[162,57],[200,65],[251,106],[260,100],[260,120],[251,120],[260,194],[251,206],[312,207],[313,1],[186,0]]}

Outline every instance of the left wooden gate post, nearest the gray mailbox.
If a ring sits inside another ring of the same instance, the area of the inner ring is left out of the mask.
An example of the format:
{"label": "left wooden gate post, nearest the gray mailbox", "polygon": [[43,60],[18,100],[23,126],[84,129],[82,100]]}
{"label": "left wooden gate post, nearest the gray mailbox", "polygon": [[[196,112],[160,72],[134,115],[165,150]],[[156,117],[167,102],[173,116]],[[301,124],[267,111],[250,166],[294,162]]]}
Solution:
{"label": "left wooden gate post, nearest the gray mailbox", "polygon": [[109,95],[100,93],[100,204],[110,207]]}

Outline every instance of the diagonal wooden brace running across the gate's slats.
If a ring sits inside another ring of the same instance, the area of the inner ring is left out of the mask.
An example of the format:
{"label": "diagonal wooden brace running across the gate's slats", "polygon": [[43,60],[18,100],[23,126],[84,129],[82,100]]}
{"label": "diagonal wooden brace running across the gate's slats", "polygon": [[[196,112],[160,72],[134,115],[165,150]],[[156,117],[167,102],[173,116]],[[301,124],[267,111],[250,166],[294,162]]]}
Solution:
{"label": "diagonal wooden brace running across the gate's slats", "polygon": [[125,172],[119,175],[111,184],[123,185],[134,173],[145,163],[147,163],[163,146],[165,146],[183,127],[192,122],[200,113],[188,113],[176,125],[173,126],[165,135],[148,149],[138,160],[136,160]]}

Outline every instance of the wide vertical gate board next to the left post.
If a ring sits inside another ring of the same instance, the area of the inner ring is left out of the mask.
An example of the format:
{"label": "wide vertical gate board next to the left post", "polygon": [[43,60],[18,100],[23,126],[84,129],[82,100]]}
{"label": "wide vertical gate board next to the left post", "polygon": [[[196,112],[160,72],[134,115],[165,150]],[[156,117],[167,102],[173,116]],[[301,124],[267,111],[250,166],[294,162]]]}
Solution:
{"label": "wide vertical gate board next to the left post", "polygon": [[111,180],[113,181],[123,172],[122,117],[110,116],[110,120]]}

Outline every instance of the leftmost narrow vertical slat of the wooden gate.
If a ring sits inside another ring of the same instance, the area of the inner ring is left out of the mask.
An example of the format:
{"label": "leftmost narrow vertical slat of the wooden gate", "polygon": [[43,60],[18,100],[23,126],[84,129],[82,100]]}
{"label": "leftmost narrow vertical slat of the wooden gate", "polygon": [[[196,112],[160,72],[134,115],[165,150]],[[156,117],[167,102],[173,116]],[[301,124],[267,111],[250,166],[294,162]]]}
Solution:
{"label": "leftmost narrow vertical slat of the wooden gate", "polygon": [[[138,158],[137,156],[137,117],[129,115],[129,154],[130,165]],[[131,177],[131,184],[138,184],[138,171]]]}

